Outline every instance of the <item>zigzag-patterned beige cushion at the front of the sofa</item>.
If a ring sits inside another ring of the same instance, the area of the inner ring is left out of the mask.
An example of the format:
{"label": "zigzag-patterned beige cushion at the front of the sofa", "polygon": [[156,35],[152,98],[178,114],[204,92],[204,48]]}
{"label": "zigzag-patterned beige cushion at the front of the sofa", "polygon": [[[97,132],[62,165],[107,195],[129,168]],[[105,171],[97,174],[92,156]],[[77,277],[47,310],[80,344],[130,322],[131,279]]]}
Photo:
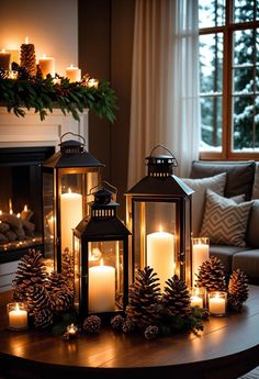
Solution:
{"label": "zigzag-patterned beige cushion at the front of the sofa", "polygon": [[246,246],[245,235],[252,201],[237,204],[211,190],[206,191],[206,205],[201,236],[212,244]]}

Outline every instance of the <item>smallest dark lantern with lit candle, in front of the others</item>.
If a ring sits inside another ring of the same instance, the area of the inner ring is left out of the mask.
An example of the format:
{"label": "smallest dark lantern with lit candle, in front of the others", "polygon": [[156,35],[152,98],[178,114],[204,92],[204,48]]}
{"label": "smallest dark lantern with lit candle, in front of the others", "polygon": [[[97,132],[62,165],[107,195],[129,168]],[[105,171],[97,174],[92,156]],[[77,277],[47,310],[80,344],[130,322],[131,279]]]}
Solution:
{"label": "smallest dark lantern with lit candle, in front of the others", "polygon": [[108,183],[97,190],[90,215],[74,230],[75,305],[81,316],[125,310],[128,287],[128,235],[117,219]]}

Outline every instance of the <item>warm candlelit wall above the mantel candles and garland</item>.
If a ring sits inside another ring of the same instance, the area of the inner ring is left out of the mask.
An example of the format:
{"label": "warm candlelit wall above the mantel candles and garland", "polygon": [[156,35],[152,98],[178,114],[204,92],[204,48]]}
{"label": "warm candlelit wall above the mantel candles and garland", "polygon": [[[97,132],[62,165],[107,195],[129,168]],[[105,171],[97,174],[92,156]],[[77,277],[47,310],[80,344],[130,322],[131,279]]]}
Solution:
{"label": "warm candlelit wall above the mantel candles and garland", "polygon": [[0,49],[20,49],[25,37],[38,56],[55,58],[56,71],[78,64],[77,0],[1,0]]}

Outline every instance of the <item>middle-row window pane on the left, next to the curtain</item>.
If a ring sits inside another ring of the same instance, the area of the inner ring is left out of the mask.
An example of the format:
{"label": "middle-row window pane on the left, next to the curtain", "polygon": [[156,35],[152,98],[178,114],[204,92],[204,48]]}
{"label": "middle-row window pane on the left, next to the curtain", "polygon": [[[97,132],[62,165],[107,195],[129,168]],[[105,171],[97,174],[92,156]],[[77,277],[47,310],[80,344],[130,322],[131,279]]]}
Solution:
{"label": "middle-row window pane on the left, next to the curtain", "polygon": [[223,35],[200,36],[200,89],[201,93],[222,92]]}

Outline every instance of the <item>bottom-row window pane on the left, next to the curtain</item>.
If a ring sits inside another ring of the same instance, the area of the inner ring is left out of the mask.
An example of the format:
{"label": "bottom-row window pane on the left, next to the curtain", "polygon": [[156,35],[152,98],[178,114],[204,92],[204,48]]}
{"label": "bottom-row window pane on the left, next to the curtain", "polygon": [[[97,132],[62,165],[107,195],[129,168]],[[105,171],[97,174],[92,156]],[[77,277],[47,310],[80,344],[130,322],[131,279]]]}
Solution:
{"label": "bottom-row window pane on the left, next to the curtain", "polygon": [[222,151],[222,97],[201,97],[201,148],[203,152]]}

